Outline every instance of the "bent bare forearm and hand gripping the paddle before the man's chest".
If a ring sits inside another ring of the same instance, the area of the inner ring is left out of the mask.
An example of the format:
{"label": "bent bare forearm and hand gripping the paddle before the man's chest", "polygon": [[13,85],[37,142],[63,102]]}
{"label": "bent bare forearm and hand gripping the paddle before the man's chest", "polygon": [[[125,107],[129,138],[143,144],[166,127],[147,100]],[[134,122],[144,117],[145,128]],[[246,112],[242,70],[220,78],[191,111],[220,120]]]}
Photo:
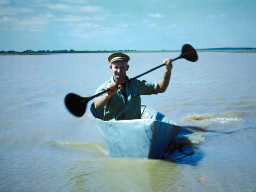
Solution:
{"label": "bent bare forearm and hand gripping the paddle before the man's chest", "polygon": [[[121,85],[119,85],[120,87]],[[105,107],[109,101],[109,99],[113,96],[113,94],[115,94],[117,92],[117,90],[119,89],[119,87],[117,87],[117,83],[113,82],[111,84],[109,84],[106,89],[109,89],[108,92],[106,92],[106,94],[104,94],[103,96],[98,97],[95,102],[95,109],[102,109],[103,107]]]}

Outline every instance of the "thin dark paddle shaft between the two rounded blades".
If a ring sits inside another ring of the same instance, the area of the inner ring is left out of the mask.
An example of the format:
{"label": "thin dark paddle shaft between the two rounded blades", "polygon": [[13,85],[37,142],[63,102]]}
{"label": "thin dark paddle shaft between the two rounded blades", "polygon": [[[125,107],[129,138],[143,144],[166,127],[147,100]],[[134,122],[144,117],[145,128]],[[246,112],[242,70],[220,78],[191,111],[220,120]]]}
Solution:
{"label": "thin dark paddle shaft between the two rounded blades", "polygon": [[[184,57],[185,55],[187,55],[187,53],[184,53],[184,54],[180,55],[179,57],[176,57],[176,58],[173,59],[172,61],[175,61],[175,60],[177,60],[177,59],[180,59],[180,58]],[[158,69],[158,68],[160,68],[160,67],[162,67],[162,66],[165,66],[165,63],[163,63],[163,64],[161,64],[161,65],[159,65],[159,66],[156,66],[155,68],[152,68],[152,69],[150,69],[150,70],[148,70],[148,71],[146,71],[146,72],[144,72],[144,73],[142,73],[142,74],[140,74],[140,75],[138,75],[138,76],[135,76],[134,78],[127,79],[126,81],[124,81],[124,82],[122,82],[122,83],[119,83],[119,84],[117,85],[117,87],[118,87],[119,85],[124,85],[125,83],[128,83],[129,81],[132,81],[132,80],[134,80],[134,79],[137,79],[137,78],[139,78],[139,77],[141,77],[141,76],[143,76],[143,75],[145,75],[145,74],[148,74],[149,72],[154,71],[154,70],[156,70],[156,69]],[[106,93],[106,92],[108,92],[108,91],[109,91],[109,89],[106,89],[106,90],[104,90],[104,91],[102,91],[102,92],[100,92],[100,93],[98,93],[98,94],[96,94],[96,95],[94,95],[94,96],[87,97],[86,99],[80,101],[80,103],[89,102],[89,101],[92,100],[93,98],[98,97],[98,96],[100,96],[100,95],[102,95],[102,94],[104,94],[104,93]]]}

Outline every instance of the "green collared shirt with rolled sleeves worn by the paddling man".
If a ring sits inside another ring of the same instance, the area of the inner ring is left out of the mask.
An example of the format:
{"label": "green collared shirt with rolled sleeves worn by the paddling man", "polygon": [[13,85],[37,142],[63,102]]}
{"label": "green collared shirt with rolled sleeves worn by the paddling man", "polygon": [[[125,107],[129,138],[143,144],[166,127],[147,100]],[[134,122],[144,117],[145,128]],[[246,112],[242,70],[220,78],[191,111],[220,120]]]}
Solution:
{"label": "green collared shirt with rolled sleeves worn by the paddling man", "polygon": [[[100,85],[96,94],[106,90],[106,87],[114,82],[114,77]],[[141,118],[141,97],[140,95],[157,94],[158,83],[151,83],[145,80],[134,79],[126,84],[126,98],[119,89],[104,107],[104,121],[111,119],[129,120]]]}

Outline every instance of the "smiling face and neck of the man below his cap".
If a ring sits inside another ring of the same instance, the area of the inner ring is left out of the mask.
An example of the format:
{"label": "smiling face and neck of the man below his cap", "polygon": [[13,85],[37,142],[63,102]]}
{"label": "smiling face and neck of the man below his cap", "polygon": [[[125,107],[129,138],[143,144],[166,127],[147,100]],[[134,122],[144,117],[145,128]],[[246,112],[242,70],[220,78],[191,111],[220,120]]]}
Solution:
{"label": "smiling face and neck of the man below his cap", "polygon": [[126,61],[115,61],[112,65],[109,66],[111,71],[113,71],[115,78],[117,79],[125,79],[126,71],[129,68]]}

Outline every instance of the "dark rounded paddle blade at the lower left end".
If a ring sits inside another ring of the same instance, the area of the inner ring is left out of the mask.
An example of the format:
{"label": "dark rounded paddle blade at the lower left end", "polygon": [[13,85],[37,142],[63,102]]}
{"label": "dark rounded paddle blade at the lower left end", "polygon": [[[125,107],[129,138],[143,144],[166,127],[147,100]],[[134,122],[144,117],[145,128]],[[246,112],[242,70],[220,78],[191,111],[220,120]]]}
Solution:
{"label": "dark rounded paddle blade at the lower left end", "polygon": [[77,117],[82,117],[85,113],[87,104],[87,102],[81,103],[81,101],[84,99],[86,98],[80,97],[79,95],[76,95],[74,93],[69,93],[65,97],[65,105],[70,113]]}

